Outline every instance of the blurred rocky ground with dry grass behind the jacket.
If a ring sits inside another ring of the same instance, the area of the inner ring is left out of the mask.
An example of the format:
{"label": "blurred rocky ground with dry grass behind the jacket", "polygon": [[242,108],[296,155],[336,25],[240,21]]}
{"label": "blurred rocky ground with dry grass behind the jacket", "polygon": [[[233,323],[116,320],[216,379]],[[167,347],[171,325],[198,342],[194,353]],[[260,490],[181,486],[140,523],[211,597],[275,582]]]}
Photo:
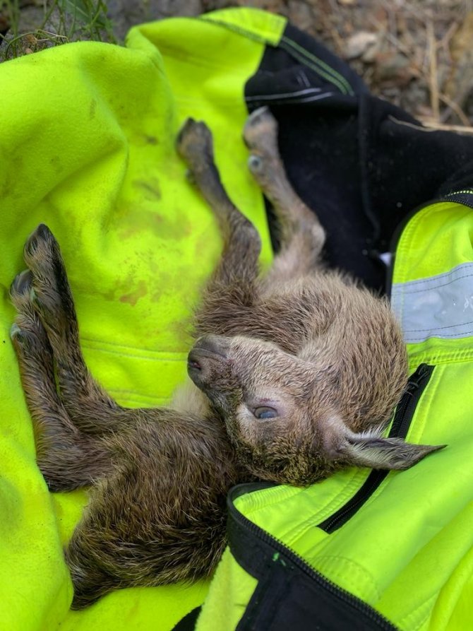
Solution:
{"label": "blurred rocky ground with dry grass behind the jacket", "polygon": [[[8,15],[1,6],[0,0],[0,32],[8,40]],[[64,41],[54,12],[44,27],[49,35],[35,33],[42,6],[43,0],[20,1],[20,33],[30,35],[20,40],[19,52],[10,47],[5,57]],[[134,24],[229,6],[287,16],[348,61],[374,94],[427,126],[473,133],[473,0],[109,0],[110,28],[97,36],[120,43]],[[94,33],[79,30],[68,40],[84,37]]]}

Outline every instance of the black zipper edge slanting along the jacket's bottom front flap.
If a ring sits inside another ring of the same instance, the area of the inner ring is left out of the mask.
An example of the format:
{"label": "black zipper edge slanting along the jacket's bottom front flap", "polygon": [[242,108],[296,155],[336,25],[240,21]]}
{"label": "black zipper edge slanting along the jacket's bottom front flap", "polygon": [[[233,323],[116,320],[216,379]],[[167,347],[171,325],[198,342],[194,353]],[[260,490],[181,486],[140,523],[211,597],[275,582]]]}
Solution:
{"label": "black zipper edge slanting along the jacket's bottom front flap", "polygon": [[[396,627],[392,625],[387,618],[381,615],[381,613],[378,613],[378,611],[367,605],[364,601],[361,601],[360,598],[357,598],[357,596],[350,594],[349,591],[347,591],[346,589],[342,589],[341,587],[330,581],[330,579],[324,577],[323,574],[317,572],[317,570],[314,570],[313,567],[308,565],[308,563],[304,561],[304,559],[296,552],[294,552],[294,550],[287,548],[287,546],[279,541],[279,539],[273,537],[273,535],[270,535],[270,533],[254,524],[253,521],[247,519],[243,514],[241,514],[241,512],[239,512],[238,509],[236,509],[236,507],[234,507],[232,502],[229,502],[229,504],[230,512],[232,513],[232,519],[234,519],[239,524],[239,526],[241,526],[241,528],[245,529],[246,531],[251,531],[252,533],[254,533],[255,536],[261,539],[261,541],[271,546],[273,550],[276,550],[277,552],[284,555],[284,557],[289,560],[289,562],[298,567],[299,570],[304,572],[304,574],[307,574],[325,591],[328,591],[330,592],[330,594],[333,594],[334,596],[337,596],[337,598],[340,598],[340,600],[345,601],[345,603],[359,611],[359,613],[364,613],[367,618],[370,618],[378,625],[380,631],[397,631]],[[231,544],[230,548],[232,548]]]}

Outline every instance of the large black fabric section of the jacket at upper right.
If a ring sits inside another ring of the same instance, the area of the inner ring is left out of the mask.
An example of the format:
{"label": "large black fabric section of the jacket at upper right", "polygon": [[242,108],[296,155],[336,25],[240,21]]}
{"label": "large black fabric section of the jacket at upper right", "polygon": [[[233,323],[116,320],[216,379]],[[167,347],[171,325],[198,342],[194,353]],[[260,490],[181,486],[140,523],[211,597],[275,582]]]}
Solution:
{"label": "large black fabric section of the jacket at upper right", "polygon": [[385,290],[379,254],[402,219],[473,185],[472,137],[421,128],[291,25],[266,49],[245,95],[250,111],[268,105],[277,118],[288,177],[327,230],[325,259],[371,288]]}

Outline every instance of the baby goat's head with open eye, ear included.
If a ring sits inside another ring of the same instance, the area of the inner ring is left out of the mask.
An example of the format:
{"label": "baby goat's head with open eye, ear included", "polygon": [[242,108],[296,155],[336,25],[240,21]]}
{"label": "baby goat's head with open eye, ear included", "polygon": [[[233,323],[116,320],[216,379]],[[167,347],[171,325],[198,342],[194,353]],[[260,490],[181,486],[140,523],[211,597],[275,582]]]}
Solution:
{"label": "baby goat's head with open eye, ear included", "polygon": [[404,469],[438,449],[381,437],[405,386],[400,366],[400,374],[378,375],[393,382],[391,389],[383,383],[380,402],[376,384],[360,391],[340,367],[323,369],[254,338],[204,336],[188,355],[191,379],[224,420],[246,468],[294,485],[349,465]]}

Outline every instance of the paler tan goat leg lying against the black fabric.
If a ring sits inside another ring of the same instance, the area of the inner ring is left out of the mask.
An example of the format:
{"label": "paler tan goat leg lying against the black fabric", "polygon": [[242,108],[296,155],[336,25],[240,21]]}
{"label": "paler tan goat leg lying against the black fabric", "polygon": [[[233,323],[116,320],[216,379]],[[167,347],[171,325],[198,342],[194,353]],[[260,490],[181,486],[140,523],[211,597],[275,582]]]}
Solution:
{"label": "paler tan goat leg lying against the black fabric", "polygon": [[280,252],[268,281],[311,273],[320,264],[325,230],[289,184],[277,146],[277,122],[267,107],[249,116],[243,135],[251,151],[249,169],[273,205],[279,223]]}

